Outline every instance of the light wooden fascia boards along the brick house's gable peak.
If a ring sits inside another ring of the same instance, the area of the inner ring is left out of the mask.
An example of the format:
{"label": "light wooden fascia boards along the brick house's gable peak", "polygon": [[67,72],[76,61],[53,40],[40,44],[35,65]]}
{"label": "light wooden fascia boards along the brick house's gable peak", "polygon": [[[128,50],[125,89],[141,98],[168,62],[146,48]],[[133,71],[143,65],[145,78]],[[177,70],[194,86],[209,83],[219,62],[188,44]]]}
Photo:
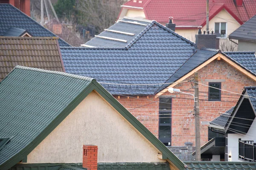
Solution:
{"label": "light wooden fascia boards along the brick house's gable peak", "polygon": [[225,62],[227,62],[229,65],[231,65],[233,68],[236,68],[237,70],[239,70],[242,74],[245,74],[247,77],[249,77],[250,79],[253,79],[254,81],[256,81],[256,76],[251,74],[249,71],[245,70],[244,68],[241,67],[241,65],[239,65],[238,63],[236,63],[234,60],[229,59],[227,56],[218,53],[216,54],[214,57],[208,59],[206,62],[204,62],[203,64],[199,65],[197,68],[195,68],[194,70],[190,71],[188,74],[186,74],[185,76],[181,77],[180,79],[176,80],[173,84],[169,85],[167,88],[163,89],[162,91],[160,91],[159,93],[156,94],[155,98],[157,98],[158,96],[161,96],[162,94],[164,94],[166,91],[168,91],[168,88],[172,88],[175,85],[177,85],[179,82],[183,81],[184,79],[188,78],[189,76],[191,76],[192,74],[194,74],[196,71],[200,70],[201,68],[203,68],[204,66],[208,65],[210,62],[212,62],[213,60],[215,60],[216,58],[221,57],[221,59],[223,59]]}

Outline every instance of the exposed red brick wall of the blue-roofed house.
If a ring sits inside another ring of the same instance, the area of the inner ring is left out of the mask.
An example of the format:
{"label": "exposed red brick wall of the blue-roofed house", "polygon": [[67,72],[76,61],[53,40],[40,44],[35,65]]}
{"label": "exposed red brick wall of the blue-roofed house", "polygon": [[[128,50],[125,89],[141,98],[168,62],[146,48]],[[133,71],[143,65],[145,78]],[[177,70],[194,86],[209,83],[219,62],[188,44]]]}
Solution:
{"label": "exposed red brick wall of the blue-roofed house", "polygon": [[[212,81],[221,81],[221,89],[233,91],[241,94],[243,87],[246,85],[256,85],[256,82],[249,79],[238,70],[228,65],[222,60],[215,60],[198,71],[199,82],[208,85]],[[189,77],[192,79],[192,77]],[[191,82],[180,83],[174,88],[186,90],[192,87]],[[233,95],[221,91],[220,101],[208,101],[208,87],[199,85],[200,99],[200,116],[201,119],[201,145],[208,141],[208,122],[219,116],[218,112],[225,112],[232,106],[236,105],[239,95]],[[194,89],[190,89],[188,93],[194,94]],[[165,93],[163,95],[170,95]],[[173,94],[171,94],[173,95]],[[127,98],[120,96],[119,102],[140,120],[155,136],[158,137],[158,98],[154,96],[137,96]],[[185,99],[183,99],[185,98]],[[149,101],[148,101],[149,100]],[[157,102],[154,102],[157,101]],[[154,102],[150,105],[148,103]],[[172,146],[184,146],[185,142],[192,142],[195,146],[195,122],[191,113],[194,109],[193,97],[190,95],[176,95],[172,99]],[[142,105],[140,109],[131,110]],[[206,119],[206,120],[205,120]]]}

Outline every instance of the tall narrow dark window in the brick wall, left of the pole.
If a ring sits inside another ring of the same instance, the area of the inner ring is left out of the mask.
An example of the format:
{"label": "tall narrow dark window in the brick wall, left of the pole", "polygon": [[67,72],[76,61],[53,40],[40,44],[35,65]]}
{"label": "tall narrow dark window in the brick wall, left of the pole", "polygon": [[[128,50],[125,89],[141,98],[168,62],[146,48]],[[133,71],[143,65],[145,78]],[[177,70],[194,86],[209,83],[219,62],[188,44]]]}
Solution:
{"label": "tall narrow dark window in the brick wall, left of the pole", "polygon": [[166,146],[171,145],[172,135],[172,98],[159,98],[159,140]]}

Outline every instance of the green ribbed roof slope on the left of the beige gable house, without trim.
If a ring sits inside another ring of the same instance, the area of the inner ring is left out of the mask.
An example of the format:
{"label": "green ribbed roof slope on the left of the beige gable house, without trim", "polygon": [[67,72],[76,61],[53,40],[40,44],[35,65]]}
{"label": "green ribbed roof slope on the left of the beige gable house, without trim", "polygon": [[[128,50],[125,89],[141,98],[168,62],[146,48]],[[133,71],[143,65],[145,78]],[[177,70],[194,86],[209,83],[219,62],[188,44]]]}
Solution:
{"label": "green ribbed roof slope on the left of the beige gable house, without trim", "polygon": [[25,148],[91,83],[88,77],[16,66],[0,82],[0,165]]}

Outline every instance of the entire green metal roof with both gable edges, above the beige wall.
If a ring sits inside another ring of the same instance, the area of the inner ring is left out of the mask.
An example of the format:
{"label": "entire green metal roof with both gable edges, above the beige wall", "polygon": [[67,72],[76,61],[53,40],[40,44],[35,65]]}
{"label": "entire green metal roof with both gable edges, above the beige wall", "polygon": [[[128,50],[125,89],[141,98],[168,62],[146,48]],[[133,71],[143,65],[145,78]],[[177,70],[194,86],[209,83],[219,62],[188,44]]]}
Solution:
{"label": "entire green metal roof with both gable edges, above the beige wall", "polygon": [[0,138],[10,138],[0,150],[0,169],[7,170],[26,160],[93,90],[160,150],[163,159],[184,169],[183,162],[95,79],[23,66],[16,66],[0,82]]}

